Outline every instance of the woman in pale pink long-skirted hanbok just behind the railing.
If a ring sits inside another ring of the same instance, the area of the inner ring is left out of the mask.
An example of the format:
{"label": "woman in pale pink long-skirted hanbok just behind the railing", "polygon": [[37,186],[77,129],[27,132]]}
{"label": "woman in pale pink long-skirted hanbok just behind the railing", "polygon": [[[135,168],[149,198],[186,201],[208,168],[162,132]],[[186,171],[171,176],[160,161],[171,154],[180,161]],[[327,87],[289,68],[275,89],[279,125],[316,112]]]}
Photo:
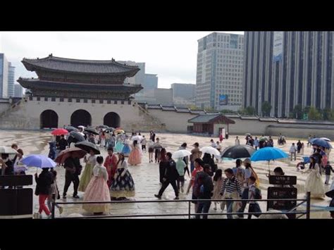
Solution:
{"label": "woman in pale pink long-skirted hanbok just behind the railing", "polygon": [[[97,165],[93,168],[93,177],[86,188],[84,201],[111,201],[107,185],[108,173],[102,163],[103,157],[97,156]],[[83,204],[82,208],[89,213],[101,214],[106,213],[109,206],[110,204]]]}

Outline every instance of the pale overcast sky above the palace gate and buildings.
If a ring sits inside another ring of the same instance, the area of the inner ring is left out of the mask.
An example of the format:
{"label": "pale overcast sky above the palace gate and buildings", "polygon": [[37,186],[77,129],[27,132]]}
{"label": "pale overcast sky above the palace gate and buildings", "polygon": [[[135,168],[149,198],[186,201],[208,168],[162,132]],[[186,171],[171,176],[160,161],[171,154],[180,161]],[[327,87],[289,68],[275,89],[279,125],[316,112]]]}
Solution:
{"label": "pale overcast sky above the palace gate and buildings", "polygon": [[[173,82],[196,83],[197,40],[211,32],[0,32],[0,52],[16,67],[18,77],[32,77],[23,57],[58,57],[136,61],[157,74],[158,87]],[[243,32],[228,32],[243,34]]]}

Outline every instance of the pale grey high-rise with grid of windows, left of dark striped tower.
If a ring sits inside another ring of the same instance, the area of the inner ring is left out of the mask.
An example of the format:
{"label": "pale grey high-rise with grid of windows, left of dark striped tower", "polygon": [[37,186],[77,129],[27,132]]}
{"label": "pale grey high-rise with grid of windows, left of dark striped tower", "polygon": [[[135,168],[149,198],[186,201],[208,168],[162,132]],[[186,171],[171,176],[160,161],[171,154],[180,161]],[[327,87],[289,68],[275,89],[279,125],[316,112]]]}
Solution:
{"label": "pale grey high-rise with grid of windows, left of dark striped tower", "polygon": [[232,109],[242,106],[244,36],[214,32],[198,40],[196,105]]}

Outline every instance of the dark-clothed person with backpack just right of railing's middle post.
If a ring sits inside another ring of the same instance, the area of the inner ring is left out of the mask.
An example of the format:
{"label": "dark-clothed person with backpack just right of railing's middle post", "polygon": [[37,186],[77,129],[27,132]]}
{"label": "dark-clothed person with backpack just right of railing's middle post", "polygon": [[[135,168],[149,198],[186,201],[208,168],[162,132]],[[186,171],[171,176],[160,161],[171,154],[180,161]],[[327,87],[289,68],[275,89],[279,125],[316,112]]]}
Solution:
{"label": "dark-clothed person with backpack just right of railing's middle post", "polygon": [[204,213],[203,219],[207,219],[210,206],[211,206],[211,196],[214,190],[214,183],[212,182],[213,172],[211,171],[211,166],[204,164],[203,171],[197,173],[197,182],[199,183],[197,187],[197,199],[203,199],[206,201],[198,201],[197,215],[196,218],[199,219],[200,215],[198,213]]}

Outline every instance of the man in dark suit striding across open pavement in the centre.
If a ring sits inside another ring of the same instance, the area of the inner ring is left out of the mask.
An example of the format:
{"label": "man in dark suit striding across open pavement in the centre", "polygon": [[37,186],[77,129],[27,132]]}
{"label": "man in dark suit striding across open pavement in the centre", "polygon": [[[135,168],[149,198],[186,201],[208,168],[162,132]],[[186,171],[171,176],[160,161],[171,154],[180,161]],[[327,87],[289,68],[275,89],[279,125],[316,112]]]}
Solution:
{"label": "man in dark suit striding across open pavement in the centre", "polygon": [[172,158],[171,152],[168,152],[166,154],[166,160],[168,161],[168,165],[163,175],[163,184],[162,184],[161,189],[159,190],[159,193],[154,194],[154,196],[156,196],[156,198],[158,199],[161,199],[163,192],[168,187],[168,185],[171,184],[175,192],[174,199],[180,199],[178,197],[178,187],[176,185],[176,180],[178,180],[179,174],[178,174],[178,170],[176,170],[176,164]]}

